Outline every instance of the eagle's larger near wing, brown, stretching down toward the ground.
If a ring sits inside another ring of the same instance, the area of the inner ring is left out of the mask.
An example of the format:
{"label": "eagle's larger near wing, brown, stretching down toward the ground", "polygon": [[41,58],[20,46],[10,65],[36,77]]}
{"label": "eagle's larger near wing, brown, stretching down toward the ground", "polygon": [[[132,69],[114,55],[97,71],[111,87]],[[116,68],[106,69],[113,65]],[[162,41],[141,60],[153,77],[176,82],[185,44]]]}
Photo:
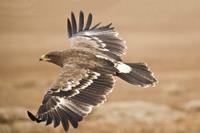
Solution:
{"label": "eagle's larger near wing, brown, stretching down toward the ground", "polygon": [[74,128],[91,112],[94,106],[103,103],[113,87],[112,75],[89,69],[64,68],[59,78],[44,96],[36,115],[28,111],[31,120],[57,127],[62,123],[65,131],[69,122]]}

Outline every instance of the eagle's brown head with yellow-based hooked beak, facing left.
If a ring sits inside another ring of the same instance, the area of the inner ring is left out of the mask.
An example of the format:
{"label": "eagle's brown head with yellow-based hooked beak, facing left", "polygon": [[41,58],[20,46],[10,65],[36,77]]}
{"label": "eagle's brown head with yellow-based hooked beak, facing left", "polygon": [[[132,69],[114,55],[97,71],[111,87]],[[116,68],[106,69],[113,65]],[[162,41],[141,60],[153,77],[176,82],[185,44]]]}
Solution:
{"label": "eagle's brown head with yellow-based hooked beak, facing left", "polygon": [[51,62],[58,66],[63,66],[63,56],[62,56],[62,52],[60,51],[53,51],[53,52],[44,54],[40,57],[39,60]]}

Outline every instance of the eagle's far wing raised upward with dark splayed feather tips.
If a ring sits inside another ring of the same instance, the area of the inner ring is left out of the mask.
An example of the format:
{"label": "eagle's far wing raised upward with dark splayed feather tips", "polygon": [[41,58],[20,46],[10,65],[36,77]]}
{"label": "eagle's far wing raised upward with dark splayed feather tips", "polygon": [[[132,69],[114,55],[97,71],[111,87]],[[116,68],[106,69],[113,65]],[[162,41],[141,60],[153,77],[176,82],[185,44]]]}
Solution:
{"label": "eagle's far wing raised upward with dark splayed feather tips", "polygon": [[106,26],[100,26],[101,23],[98,23],[93,27],[91,24],[91,13],[84,24],[84,14],[80,11],[78,26],[74,13],[71,13],[71,19],[67,19],[67,27],[72,47],[96,50],[120,59],[120,56],[125,53],[126,45],[114,31],[114,27],[111,27],[112,23]]}

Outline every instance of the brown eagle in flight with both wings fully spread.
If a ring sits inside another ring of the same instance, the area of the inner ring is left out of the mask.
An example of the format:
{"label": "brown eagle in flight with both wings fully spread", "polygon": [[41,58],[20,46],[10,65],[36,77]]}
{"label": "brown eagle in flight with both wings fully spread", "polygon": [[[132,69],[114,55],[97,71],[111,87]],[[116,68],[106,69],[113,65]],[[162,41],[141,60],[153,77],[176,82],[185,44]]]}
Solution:
{"label": "brown eagle in flight with both wings fully spread", "polygon": [[67,18],[70,49],[48,52],[39,58],[59,66],[61,73],[47,89],[36,114],[27,111],[32,121],[53,124],[54,128],[62,124],[66,132],[70,125],[77,128],[94,107],[106,101],[114,77],[141,87],[158,82],[146,63],[122,61],[126,42],[112,23],[91,26],[93,15],[84,15],[80,11],[77,20],[71,12],[71,18]]}

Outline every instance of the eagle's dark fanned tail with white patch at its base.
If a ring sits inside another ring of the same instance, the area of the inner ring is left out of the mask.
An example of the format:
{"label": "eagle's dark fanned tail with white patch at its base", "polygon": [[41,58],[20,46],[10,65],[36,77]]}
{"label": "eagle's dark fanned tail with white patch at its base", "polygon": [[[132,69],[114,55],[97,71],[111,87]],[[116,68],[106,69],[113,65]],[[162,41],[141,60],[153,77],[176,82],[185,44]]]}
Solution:
{"label": "eagle's dark fanned tail with white patch at its base", "polygon": [[117,76],[126,82],[141,87],[154,86],[158,81],[145,63],[122,63],[115,65]]}

